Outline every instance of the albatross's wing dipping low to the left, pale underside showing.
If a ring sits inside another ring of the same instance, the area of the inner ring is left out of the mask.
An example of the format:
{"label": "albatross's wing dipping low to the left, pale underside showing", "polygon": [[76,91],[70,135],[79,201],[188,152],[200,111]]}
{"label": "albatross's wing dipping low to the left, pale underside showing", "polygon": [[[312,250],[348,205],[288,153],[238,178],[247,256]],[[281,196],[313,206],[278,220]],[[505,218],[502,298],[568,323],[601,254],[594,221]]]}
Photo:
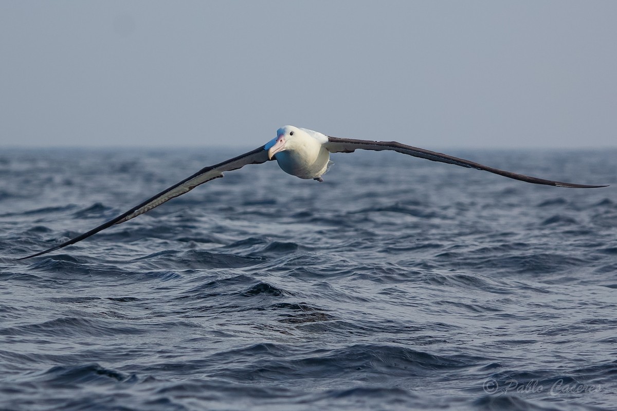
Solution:
{"label": "albatross's wing dipping low to the left, pale underside showing", "polygon": [[174,197],[178,197],[178,195],[188,193],[189,191],[197,187],[197,185],[204,184],[205,182],[209,182],[210,180],[218,177],[223,177],[223,171],[236,170],[248,164],[261,164],[265,163],[266,161],[268,161],[268,153],[262,145],[262,147],[259,147],[259,149],[244,153],[242,155],[239,155],[238,157],[223,161],[222,163],[219,163],[217,165],[202,168],[201,170],[197,171],[197,173],[193,174],[193,176],[187,177],[183,181],[178,182],[178,184],[174,184],[172,185],[172,187],[163,190],[154,197],[148,198],[143,203],[136,205],[135,207],[131,208],[131,210],[126,211],[126,213],[120,214],[116,218],[111,219],[106,223],[101,224],[100,226],[89,230],[88,232],[85,232],[84,234],[78,235],[77,237],[72,238],[67,242],[48,248],[47,250],[41,251],[40,253],[18,258],[17,260],[40,256],[42,254],[58,250],[59,248],[65,247],[67,245],[75,244],[78,241],[83,240],[84,238],[88,238],[91,235],[94,235],[97,232],[106,229],[107,227],[111,227],[114,226],[114,224],[120,224],[121,222],[128,221],[131,218],[139,216],[139,214],[147,213],[147,211],[150,211],[152,210],[152,208],[160,206],[162,203],[165,203],[165,201],[169,201]]}

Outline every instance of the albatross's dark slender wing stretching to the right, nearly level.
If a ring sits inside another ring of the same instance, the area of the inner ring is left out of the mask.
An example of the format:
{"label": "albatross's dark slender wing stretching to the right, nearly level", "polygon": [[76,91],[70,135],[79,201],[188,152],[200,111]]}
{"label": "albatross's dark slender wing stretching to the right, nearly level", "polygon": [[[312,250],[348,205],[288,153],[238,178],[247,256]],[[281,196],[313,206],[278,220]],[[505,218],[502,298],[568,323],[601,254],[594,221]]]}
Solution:
{"label": "albatross's dark slender wing stretching to the right, nearly level", "polygon": [[466,168],[475,168],[478,170],[489,171],[490,173],[499,174],[500,176],[508,177],[515,180],[531,182],[533,184],[555,185],[556,187],[572,187],[575,189],[595,189],[598,187],[607,187],[607,185],[585,185],[572,184],[569,182],[560,182],[540,179],[537,177],[525,176],[523,174],[512,173],[511,171],[500,170],[485,166],[479,163],[474,163],[463,158],[453,157],[451,155],[437,153],[430,150],[418,149],[410,145],[400,144],[396,141],[371,141],[371,140],[354,140],[354,139],[339,139],[337,137],[329,137],[325,145],[331,153],[352,153],[357,149],[360,150],[393,150],[395,152],[412,155],[413,157],[426,158],[431,161],[440,161],[441,163],[449,163]]}

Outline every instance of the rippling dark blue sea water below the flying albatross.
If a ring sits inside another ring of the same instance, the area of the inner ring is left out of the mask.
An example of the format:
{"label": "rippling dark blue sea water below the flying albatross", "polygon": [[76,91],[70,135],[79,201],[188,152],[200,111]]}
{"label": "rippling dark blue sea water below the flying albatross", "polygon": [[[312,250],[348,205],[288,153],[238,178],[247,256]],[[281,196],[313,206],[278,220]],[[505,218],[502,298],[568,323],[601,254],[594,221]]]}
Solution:
{"label": "rippling dark blue sea water below the flying albatross", "polygon": [[596,410],[617,401],[617,151],[247,166],[245,150],[0,153],[2,410]]}

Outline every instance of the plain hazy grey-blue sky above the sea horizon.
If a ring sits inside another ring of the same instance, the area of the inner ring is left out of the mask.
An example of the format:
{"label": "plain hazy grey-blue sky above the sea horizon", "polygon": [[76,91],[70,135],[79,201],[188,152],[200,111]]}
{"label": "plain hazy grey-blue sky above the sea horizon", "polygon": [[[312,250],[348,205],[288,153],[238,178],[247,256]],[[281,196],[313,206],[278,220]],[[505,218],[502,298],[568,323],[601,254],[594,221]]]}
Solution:
{"label": "plain hazy grey-blue sky above the sea horizon", "polygon": [[617,147],[617,1],[0,0],[1,147]]}

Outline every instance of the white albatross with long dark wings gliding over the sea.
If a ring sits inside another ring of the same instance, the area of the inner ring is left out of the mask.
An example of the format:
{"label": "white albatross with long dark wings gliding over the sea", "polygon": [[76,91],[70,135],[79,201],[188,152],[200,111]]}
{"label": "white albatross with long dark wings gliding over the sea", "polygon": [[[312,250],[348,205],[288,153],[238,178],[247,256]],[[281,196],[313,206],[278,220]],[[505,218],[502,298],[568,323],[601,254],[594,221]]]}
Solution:
{"label": "white albatross with long dark wings gliding over the sea", "polygon": [[572,187],[576,189],[592,189],[597,187],[607,187],[607,185],[584,185],[571,184],[568,182],[559,182],[552,180],[540,179],[537,177],[524,176],[523,174],[512,173],[511,171],[503,171],[497,168],[484,166],[473,161],[464,160],[463,158],[453,157],[451,155],[437,153],[429,150],[418,149],[410,145],[400,144],[395,141],[371,141],[371,140],[354,140],[354,139],[339,139],[337,137],[329,137],[317,131],[312,131],[305,128],[294,126],[284,126],[276,132],[277,136],[271,139],[267,144],[252,150],[248,153],[239,155],[238,157],[230,158],[217,165],[202,168],[192,176],[187,177],[183,181],[172,185],[168,189],[148,198],[143,203],[136,205],[126,213],[120,214],[114,219],[111,219],[101,226],[98,226],[88,232],[78,235],[71,240],[68,240],[59,245],[55,245],[47,250],[32,254],[27,257],[18,259],[32,258],[42,254],[50,253],[67,245],[75,244],[97,232],[106,229],[107,227],[120,224],[128,221],[131,218],[146,213],[157,206],[160,206],[165,201],[171,200],[174,197],[183,195],[193,190],[197,185],[204,184],[218,177],[223,177],[223,172],[236,170],[249,164],[261,164],[266,161],[275,159],[278,165],[285,173],[292,176],[300,177],[301,179],[313,179],[323,182],[323,174],[328,171],[330,161],[330,153],[352,153],[357,149],[360,150],[393,150],[395,152],[411,155],[413,157],[426,158],[431,161],[440,161],[441,163],[449,163],[466,168],[475,168],[478,170],[489,171],[490,173],[499,174],[500,176],[508,177],[515,180],[530,182],[533,184],[554,185],[556,187]]}

